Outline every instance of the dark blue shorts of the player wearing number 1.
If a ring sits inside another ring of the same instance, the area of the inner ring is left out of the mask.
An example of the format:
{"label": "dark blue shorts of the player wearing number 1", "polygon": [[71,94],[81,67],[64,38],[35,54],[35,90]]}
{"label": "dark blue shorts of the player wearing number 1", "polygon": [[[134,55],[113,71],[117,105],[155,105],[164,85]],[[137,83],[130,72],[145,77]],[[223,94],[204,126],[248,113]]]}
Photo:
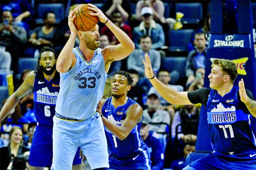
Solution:
{"label": "dark blue shorts of the player wearing number 1", "polygon": [[143,150],[131,158],[120,158],[109,154],[109,169],[120,170],[151,170],[150,153]]}

